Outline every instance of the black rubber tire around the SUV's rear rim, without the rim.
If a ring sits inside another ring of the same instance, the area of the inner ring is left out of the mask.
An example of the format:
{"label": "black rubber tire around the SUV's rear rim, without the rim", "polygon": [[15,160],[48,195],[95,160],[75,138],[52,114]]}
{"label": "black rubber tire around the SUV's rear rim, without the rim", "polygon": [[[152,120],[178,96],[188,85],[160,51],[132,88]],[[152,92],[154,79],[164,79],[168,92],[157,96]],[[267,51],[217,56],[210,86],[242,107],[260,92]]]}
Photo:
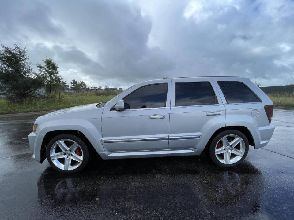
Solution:
{"label": "black rubber tire around the SUV's rear rim, without the rim", "polygon": [[[243,139],[244,143],[245,143],[245,152],[244,152],[244,155],[242,156],[242,158],[240,160],[238,160],[237,162],[235,163],[232,163],[232,164],[224,164],[224,163],[221,163],[216,155],[215,155],[215,148],[216,148],[216,145],[218,143],[218,141],[223,138],[224,136],[226,135],[230,135],[230,134],[235,134],[235,135],[238,135],[240,138]],[[237,131],[237,130],[225,130],[223,132],[220,132],[215,138],[213,138],[210,146],[209,146],[209,155],[210,155],[210,158],[211,160],[218,166],[220,167],[235,167],[237,166],[238,164],[242,163],[243,160],[245,159],[245,157],[247,156],[247,153],[248,153],[248,150],[249,150],[249,142],[248,142],[248,139],[247,137],[240,131]]]}

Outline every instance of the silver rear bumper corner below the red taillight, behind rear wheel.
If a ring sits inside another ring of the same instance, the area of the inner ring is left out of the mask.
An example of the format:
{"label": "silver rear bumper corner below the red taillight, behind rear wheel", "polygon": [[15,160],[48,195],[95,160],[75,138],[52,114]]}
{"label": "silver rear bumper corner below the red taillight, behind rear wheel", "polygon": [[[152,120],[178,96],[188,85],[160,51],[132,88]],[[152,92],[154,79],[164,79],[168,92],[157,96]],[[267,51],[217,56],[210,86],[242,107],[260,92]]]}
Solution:
{"label": "silver rear bumper corner below the red taillight, behind rear wheel", "polygon": [[273,125],[261,126],[249,129],[254,140],[254,149],[264,147],[273,136],[275,127]]}

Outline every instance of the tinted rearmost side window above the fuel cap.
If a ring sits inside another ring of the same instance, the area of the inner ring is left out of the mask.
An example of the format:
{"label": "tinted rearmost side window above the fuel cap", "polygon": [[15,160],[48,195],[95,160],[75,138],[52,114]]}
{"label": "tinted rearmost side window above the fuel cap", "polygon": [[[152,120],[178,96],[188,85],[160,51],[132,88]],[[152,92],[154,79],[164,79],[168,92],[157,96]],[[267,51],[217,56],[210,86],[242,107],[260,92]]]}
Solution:
{"label": "tinted rearmost side window above the fuel cap", "polygon": [[242,82],[217,82],[227,103],[260,102]]}

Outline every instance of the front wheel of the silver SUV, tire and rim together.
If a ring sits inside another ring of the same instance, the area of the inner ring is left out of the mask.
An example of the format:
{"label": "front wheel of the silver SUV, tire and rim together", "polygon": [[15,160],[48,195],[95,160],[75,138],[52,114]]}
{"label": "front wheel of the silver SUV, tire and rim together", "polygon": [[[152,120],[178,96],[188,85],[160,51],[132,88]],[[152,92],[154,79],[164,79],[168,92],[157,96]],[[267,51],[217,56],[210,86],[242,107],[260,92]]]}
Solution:
{"label": "front wheel of the silver SUV, tire and rim together", "polygon": [[49,141],[46,157],[51,167],[61,173],[76,173],[88,163],[89,149],[72,134],[60,134]]}

